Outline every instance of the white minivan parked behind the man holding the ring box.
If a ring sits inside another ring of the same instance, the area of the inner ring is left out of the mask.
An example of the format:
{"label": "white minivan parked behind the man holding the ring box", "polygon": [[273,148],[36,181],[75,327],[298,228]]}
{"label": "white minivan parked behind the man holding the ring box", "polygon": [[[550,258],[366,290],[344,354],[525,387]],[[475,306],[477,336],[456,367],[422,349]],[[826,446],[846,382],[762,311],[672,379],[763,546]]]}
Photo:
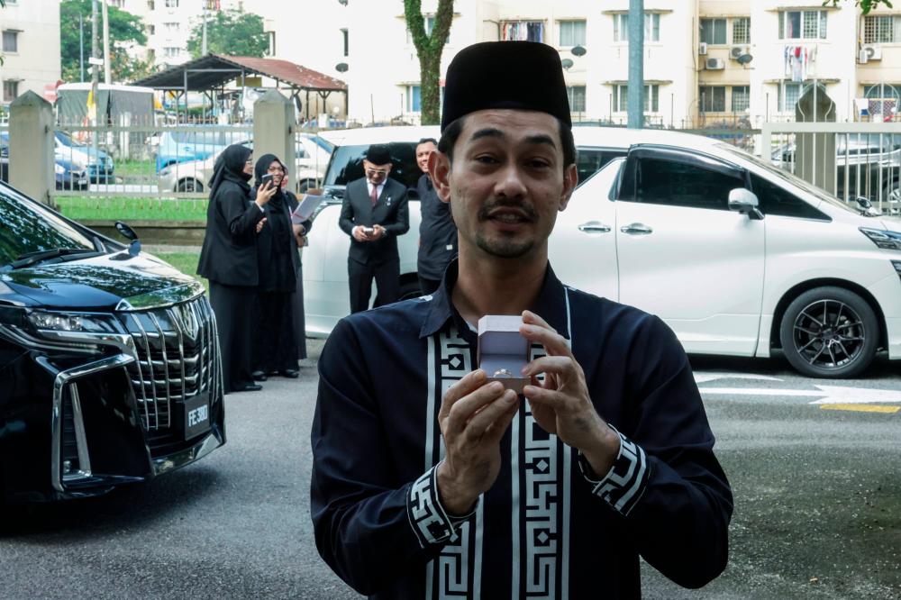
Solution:
{"label": "white minivan parked behind the man holding the ring box", "polygon": [[[878,350],[901,359],[901,220],[865,216],[708,138],[605,128],[574,137],[580,155],[591,149],[606,166],[578,186],[551,234],[562,281],[658,314],[691,353],[781,350],[813,377],[852,377]],[[349,312],[339,214],[318,214],[304,252],[311,335]],[[410,214],[398,246],[414,295],[415,203]]]}

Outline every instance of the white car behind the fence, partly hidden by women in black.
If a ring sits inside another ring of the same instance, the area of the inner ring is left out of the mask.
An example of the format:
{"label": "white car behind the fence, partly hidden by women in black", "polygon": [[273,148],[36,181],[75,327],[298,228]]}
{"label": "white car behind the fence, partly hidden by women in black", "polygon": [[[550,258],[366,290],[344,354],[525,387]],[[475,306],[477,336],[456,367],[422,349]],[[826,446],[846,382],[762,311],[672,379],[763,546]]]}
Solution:
{"label": "white car behind the fence, partly hidden by women in black", "polygon": [[[296,172],[294,180],[296,189],[305,192],[307,189],[317,186],[325,175],[325,168],[329,164],[332,145],[319,136],[302,135],[295,155]],[[250,149],[252,141],[241,141]],[[218,158],[221,149],[205,160],[191,160],[168,165],[159,171],[158,186],[160,191],[172,192],[203,192],[213,177],[215,159]]]}

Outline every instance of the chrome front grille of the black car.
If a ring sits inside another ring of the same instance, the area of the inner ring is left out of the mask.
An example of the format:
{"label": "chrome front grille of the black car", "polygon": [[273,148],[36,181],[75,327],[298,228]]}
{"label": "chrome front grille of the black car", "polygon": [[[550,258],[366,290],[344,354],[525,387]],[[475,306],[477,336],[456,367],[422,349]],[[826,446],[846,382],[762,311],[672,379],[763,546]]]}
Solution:
{"label": "chrome front grille of the black car", "polygon": [[169,430],[179,428],[175,403],[204,392],[212,401],[219,392],[213,310],[202,295],[167,308],[120,313],[119,318],[137,350],[128,372],[144,429],[162,443]]}

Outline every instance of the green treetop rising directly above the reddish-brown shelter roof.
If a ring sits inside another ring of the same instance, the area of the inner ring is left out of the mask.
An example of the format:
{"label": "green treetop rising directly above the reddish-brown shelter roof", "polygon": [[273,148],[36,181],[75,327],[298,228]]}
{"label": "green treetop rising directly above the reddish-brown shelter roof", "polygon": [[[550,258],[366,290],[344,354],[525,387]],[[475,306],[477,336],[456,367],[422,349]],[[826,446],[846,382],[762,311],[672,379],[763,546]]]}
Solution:
{"label": "green treetop rising directly above the reddish-brown shelter roof", "polygon": [[[197,23],[187,40],[187,51],[200,57],[204,23]],[[217,11],[206,21],[206,50],[212,54],[262,57],[268,49],[263,17],[240,10]]]}

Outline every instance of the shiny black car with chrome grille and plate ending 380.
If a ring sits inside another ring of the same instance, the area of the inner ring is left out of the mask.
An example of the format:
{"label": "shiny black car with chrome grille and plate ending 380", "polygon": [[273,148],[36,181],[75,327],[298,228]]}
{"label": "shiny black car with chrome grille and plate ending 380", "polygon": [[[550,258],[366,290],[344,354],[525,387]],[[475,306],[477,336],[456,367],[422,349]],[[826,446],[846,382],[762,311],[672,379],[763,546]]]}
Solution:
{"label": "shiny black car with chrome grille and plate ending 380", "polygon": [[0,504],[103,494],[222,446],[204,287],[5,184],[0,223]]}

